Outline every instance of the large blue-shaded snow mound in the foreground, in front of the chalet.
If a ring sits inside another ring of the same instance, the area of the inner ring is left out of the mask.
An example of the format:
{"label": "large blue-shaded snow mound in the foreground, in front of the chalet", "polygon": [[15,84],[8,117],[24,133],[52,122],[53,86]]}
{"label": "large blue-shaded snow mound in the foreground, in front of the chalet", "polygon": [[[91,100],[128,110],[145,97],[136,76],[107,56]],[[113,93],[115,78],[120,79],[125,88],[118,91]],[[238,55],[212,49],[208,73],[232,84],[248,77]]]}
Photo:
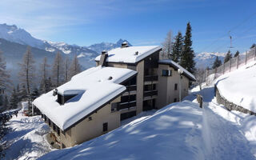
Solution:
{"label": "large blue-shaded snow mound in the foreground, in front of the chalet", "polygon": [[201,129],[202,110],[192,102],[176,103],[82,145],[56,150],[39,159],[203,159]]}

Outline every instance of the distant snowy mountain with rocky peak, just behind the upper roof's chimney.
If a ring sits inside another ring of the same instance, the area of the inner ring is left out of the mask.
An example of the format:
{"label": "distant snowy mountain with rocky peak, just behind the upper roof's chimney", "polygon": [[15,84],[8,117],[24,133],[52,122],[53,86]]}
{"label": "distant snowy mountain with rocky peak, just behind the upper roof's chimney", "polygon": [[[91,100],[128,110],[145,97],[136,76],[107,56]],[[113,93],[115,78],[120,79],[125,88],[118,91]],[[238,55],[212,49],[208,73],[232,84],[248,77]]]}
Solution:
{"label": "distant snowy mountain with rocky peak, just behind the upper roof's chimney", "polygon": [[118,42],[101,42],[96,43],[94,45],[88,46],[90,50],[96,51],[98,54],[102,53],[102,50],[112,50],[114,48],[118,48],[122,45],[122,42],[127,42],[129,46],[132,46],[130,42],[128,42],[126,39],[122,40],[121,38],[118,40]]}

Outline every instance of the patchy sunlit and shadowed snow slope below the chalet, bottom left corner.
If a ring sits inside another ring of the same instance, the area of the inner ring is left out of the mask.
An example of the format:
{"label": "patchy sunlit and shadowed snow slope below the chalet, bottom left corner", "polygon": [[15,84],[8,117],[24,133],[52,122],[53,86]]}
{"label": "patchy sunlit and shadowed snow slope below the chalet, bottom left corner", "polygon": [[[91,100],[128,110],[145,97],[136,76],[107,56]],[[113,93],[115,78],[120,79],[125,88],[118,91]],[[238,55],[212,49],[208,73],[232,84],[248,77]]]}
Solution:
{"label": "patchy sunlit and shadowed snow slope below the chalet, bottom left corner", "polygon": [[6,125],[10,130],[2,139],[9,146],[4,159],[36,159],[52,150],[44,137],[50,129],[40,116],[24,117],[19,113]]}

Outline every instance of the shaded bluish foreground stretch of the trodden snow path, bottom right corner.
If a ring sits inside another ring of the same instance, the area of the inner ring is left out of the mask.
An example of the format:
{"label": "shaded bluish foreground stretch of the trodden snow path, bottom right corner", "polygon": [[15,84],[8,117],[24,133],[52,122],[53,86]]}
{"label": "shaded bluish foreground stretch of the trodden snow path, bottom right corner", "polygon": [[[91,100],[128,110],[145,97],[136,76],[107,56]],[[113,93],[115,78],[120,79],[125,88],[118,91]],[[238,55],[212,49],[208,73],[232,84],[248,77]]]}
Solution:
{"label": "shaded bluish foreground stretch of the trodden snow path, bottom right corner", "polygon": [[207,159],[254,159],[250,153],[249,142],[237,126],[208,107],[205,107],[203,112],[202,135],[206,144]]}

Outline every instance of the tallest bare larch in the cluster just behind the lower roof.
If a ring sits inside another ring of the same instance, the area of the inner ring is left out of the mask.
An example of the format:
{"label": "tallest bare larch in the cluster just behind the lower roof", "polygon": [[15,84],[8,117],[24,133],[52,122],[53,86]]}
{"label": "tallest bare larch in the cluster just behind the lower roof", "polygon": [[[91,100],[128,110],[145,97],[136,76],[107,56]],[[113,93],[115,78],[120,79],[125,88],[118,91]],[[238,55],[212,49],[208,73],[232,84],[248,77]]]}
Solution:
{"label": "tallest bare larch in the cluster just behind the lower roof", "polygon": [[54,87],[58,87],[62,84],[64,78],[64,70],[63,70],[63,61],[62,55],[58,52],[54,59],[54,65],[52,68],[52,77],[51,80],[53,82]]}

